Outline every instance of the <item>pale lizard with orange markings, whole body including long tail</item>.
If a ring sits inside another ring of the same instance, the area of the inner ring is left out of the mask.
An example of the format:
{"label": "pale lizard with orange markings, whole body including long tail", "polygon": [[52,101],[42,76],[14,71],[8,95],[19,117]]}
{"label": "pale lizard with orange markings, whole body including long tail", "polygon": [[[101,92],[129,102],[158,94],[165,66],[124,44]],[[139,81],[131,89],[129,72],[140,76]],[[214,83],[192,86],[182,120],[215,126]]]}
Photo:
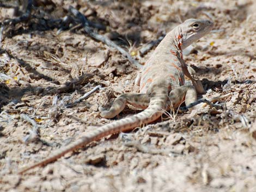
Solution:
{"label": "pale lizard with orange markings, whole body including long tail", "polygon": [[[208,34],[213,26],[214,23],[210,20],[190,18],[173,28],[156,47],[139,73],[136,80],[140,85],[139,93],[120,95],[108,110],[99,108],[100,115],[105,118],[118,115],[127,103],[144,109],[142,112],[96,128],[74,143],[53,152],[50,157],[21,170],[19,174],[51,163],[64,154],[107,135],[131,131],[133,128],[153,122],[159,119],[168,107],[177,108],[184,100],[186,106],[195,102],[197,90],[202,92],[202,84],[190,75],[190,69],[182,58],[182,49]],[[184,85],[185,75],[191,78],[193,85]]]}

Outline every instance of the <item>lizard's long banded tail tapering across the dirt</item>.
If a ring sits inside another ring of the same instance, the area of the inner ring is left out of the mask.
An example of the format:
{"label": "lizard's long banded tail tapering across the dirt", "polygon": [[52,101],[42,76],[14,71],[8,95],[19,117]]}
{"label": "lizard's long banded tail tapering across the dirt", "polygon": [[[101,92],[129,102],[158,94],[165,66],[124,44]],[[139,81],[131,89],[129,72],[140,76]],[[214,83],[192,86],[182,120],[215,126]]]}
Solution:
{"label": "lizard's long banded tail tapering across the dirt", "polygon": [[166,99],[168,97],[167,95],[164,96],[165,94],[157,95],[158,96],[154,96],[151,98],[149,107],[145,109],[143,112],[130,117],[125,117],[124,119],[111,122],[107,125],[103,125],[97,128],[95,131],[88,133],[88,135],[81,137],[74,143],[71,143],[68,146],[60,148],[59,150],[54,152],[50,157],[42,160],[41,162],[35,163],[21,170],[19,174],[23,174],[24,172],[31,170],[37,166],[42,166],[51,163],[54,160],[64,156],[64,154],[70,151],[74,151],[77,148],[80,148],[84,145],[87,145],[92,141],[106,137],[107,135],[129,131],[135,127],[141,126],[144,123],[150,123],[155,121],[161,116],[162,109],[165,108]]}

